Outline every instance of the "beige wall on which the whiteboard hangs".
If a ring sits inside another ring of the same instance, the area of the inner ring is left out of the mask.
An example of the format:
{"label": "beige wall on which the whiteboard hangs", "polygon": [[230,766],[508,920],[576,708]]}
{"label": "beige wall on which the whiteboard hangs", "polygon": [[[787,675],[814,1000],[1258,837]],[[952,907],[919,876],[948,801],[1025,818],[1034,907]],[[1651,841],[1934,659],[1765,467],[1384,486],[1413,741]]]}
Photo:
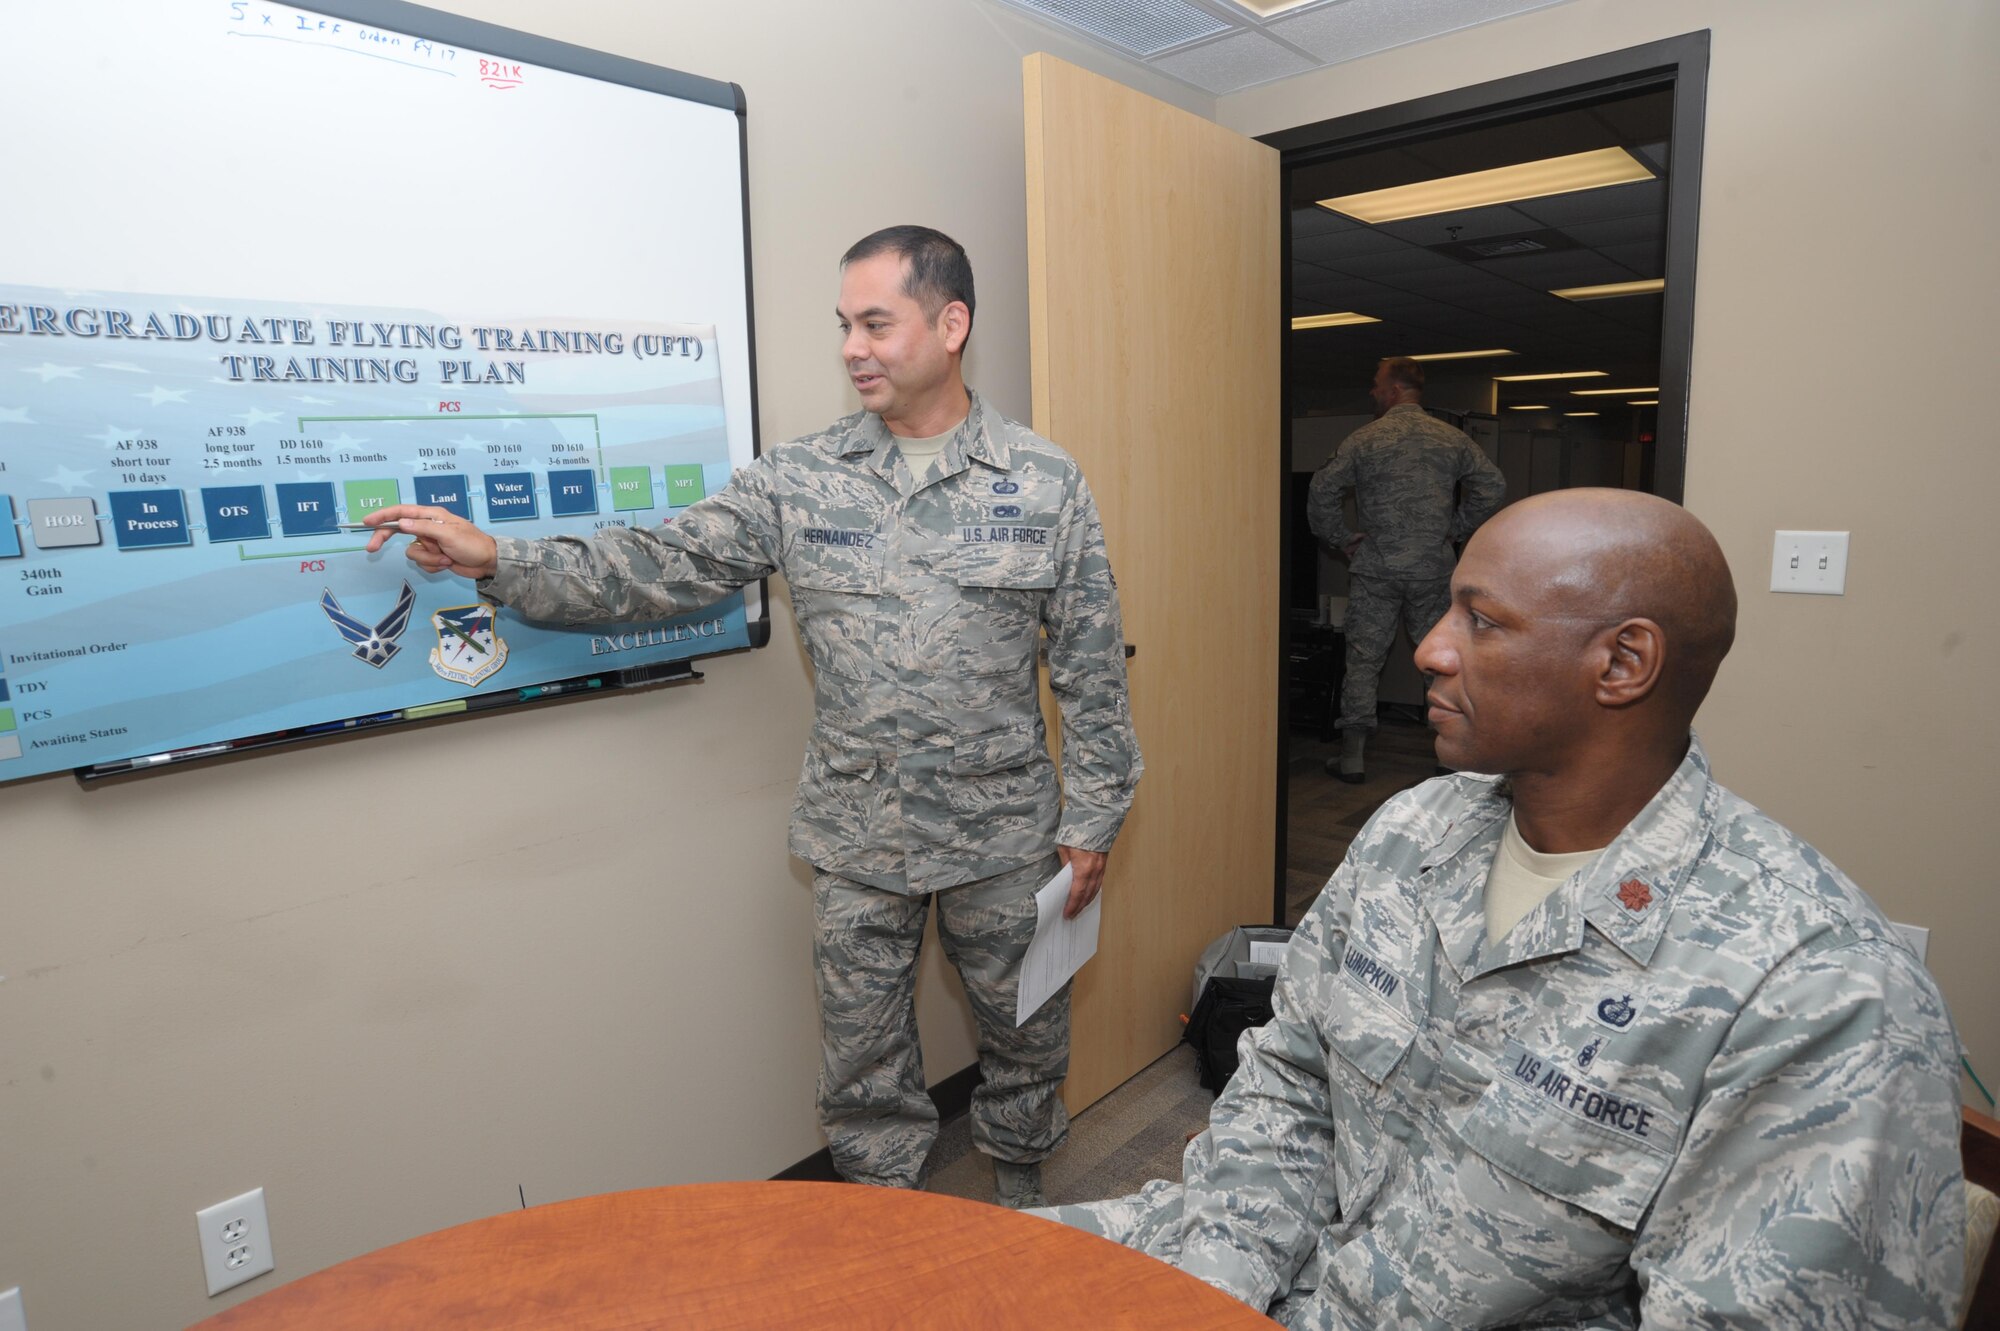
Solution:
{"label": "beige wall on which the whiteboard hangs", "polygon": [[[972,252],[972,380],[1028,416],[1022,54],[1212,110],[976,0],[446,8],[744,86],[766,440],[856,408],[834,266],[910,220]],[[784,853],[808,673],[782,616],[706,671],[0,791],[0,1289],[34,1331],[184,1325],[518,1185],[546,1203],[816,1151],[810,895]],[[972,1061],[954,989],[926,973],[934,1077]],[[194,1211],[256,1185],[278,1269],[208,1299]]]}

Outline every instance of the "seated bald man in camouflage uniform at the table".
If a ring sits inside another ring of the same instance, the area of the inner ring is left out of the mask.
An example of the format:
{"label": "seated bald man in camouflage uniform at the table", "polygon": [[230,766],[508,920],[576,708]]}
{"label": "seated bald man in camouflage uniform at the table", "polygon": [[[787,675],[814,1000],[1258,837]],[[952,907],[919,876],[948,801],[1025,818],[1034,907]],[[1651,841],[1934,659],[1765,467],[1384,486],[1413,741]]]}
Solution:
{"label": "seated bald man in camouflage uniform at the table", "polygon": [[[1054,1215],[1288,1327],[1948,1327],[1956,1035],[1876,905],[1688,719],[1720,548],[1650,496],[1526,500],[1418,650],[1452,775],[1368,823],[1186,1183]],[[1588,851],[1494,933],[1506,827]]]}

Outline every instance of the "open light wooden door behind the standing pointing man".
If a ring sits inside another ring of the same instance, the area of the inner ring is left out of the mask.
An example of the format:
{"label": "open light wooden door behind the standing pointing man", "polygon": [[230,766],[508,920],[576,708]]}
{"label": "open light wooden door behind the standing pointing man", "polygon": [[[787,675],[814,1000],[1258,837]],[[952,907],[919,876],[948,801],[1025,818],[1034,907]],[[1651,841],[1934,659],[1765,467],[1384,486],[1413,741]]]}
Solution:
{"label": "open light wooden door behind the standing pointing man", "polygon": [[1024,78],[1034,428],[1096,492],[1146,755],[1074,1111],[1174,1047],[1212,937],[1270,919],[1282,218],[1276,150],[1046,54]]}

